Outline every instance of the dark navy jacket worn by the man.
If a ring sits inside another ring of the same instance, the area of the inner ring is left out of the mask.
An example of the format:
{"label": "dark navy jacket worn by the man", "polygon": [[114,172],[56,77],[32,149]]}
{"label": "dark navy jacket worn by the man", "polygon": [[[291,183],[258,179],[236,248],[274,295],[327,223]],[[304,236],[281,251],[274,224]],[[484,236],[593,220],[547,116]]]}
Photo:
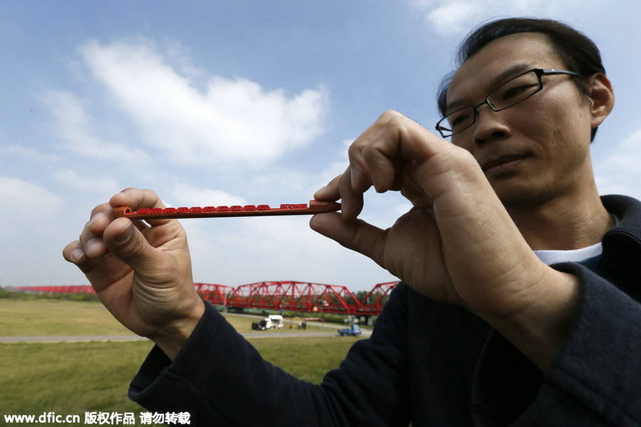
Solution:
{"label": "dark navy jacket worn by the man", "polygon": [[265,362],[210,305],[173,362],[152,349],[130,398],[197,426],[641,426],[641,203],[578,275],[570,337],[541,372],[479,317],[398,285],[369,339],[309,384]]}

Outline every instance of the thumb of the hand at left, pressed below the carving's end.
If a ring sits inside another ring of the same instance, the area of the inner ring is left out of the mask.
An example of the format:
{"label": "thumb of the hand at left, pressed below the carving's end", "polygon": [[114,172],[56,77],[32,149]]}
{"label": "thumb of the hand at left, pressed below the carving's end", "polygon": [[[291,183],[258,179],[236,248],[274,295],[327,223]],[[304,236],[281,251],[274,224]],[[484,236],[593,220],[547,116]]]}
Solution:
{"label": "thumb of the hand at left, pressed below the carving's end", "polygon": [[113,255],[138,273],[157,265],[155,251],[140,230],[128,218],[116,218],[103,233],[105,244]]}

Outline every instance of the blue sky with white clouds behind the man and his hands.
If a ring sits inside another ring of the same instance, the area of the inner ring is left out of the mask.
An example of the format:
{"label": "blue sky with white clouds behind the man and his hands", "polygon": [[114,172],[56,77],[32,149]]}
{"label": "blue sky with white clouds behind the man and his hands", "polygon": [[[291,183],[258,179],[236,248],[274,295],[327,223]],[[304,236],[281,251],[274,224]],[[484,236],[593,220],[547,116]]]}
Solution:
{"label": "blue sky with white clouds behind the man and his hands", "polygon": [[[303,203],[387,109],[432,129],[454,48],[499,16],[566,21],[600,47],[617,105],[600,193],[641,198],[636,0],[0,1],[0,285],[85,284],[62,248],[127,186],[171,206]],[[391,226],[409,205],[368,194]],[[394,278],[308,218],[183,221],[194,280]]]}

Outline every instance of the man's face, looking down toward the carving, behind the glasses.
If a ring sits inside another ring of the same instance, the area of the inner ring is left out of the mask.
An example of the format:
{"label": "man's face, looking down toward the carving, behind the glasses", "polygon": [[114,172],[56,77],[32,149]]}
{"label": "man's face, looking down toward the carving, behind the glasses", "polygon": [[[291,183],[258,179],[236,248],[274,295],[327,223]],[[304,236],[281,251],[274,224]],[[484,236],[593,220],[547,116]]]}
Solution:
{"label": "man's face, looking down toward the carving, behind the glasses", "polygon": [[[566,69],[545,35],[518,33],[489,43],[452,78],[447,112],[478,105],[532,68]],[[479,107],[476,123],[452,143],[474,155],[506,206],[533,206],[580,191],[592,179],[590,130],[590,102],[569,75],[549,75],[540,92],[513,107]]]}

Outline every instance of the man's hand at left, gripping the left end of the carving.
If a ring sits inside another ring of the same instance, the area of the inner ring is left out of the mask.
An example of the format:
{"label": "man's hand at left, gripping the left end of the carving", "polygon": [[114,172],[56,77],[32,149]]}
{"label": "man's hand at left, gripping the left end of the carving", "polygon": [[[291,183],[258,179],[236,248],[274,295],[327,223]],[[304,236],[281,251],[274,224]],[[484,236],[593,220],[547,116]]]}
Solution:
{"label": "man's hand at left, gripping the left end of the carving", "polygon": [[63,250],[125,327],[173,359],[196,327],[204,303],[192,280],[187,237],[176,220],[114,218],[113,208],[163,208],[153,191],[126,189],[96,206],[80,239]]}

